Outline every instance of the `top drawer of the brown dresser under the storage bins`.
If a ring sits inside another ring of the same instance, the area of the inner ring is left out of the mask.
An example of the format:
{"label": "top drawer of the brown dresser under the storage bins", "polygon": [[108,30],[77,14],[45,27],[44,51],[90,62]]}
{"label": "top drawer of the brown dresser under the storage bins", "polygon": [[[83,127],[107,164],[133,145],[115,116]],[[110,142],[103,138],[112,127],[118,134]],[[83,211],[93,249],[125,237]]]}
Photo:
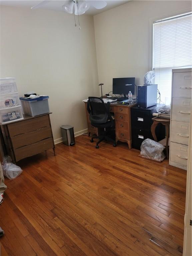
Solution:
{"label": "top drawer of the brown dresser under the storage bins", "polygon": [[34,117],[34,118],[23,120],[20,122],[15,122],[12,124],[8,124],[7,126],[8,126],[10,137],[13,137],[19,134],[41,129],[43,127],[50,127],[50,124],[49,124],[49,117],[48,115],[46,115],[46,116]]}

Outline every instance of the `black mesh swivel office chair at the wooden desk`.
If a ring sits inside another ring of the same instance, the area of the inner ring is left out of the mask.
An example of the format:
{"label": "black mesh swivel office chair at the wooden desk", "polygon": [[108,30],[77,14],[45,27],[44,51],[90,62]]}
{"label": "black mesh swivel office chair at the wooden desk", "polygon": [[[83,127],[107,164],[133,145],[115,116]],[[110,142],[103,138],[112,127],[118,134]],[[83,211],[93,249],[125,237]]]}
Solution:
{"label": "black mesh swivel office chair at the wooden desk", "polygon": [[107,136],[107,129],[114,129],[115,122],[109,111],[110,103],[104,103],[103,99],[98,97],[89,97],[87,101],[87,111],[89,113],[89,119],[91,121],[91,125],[96,128],[103,128],[104,133],[97,136],[93,135],[91,138],[91,142],[93,139],[99,139],[96,143],[96,148],[99,148],[99,143],[103,140],[113,142],[113,146],[116,147],[116,141]]}

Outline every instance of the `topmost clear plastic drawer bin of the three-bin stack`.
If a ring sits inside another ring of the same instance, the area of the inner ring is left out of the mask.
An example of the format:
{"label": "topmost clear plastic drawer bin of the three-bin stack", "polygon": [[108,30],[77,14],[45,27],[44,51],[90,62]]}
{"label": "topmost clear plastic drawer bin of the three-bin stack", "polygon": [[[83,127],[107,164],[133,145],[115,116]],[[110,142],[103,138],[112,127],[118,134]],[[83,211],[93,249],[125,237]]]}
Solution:
{"label": "topmost clear plastic drawer bin of the three-bin stack", "polygon": [[15,78],[1,78],[0,79],[0,94],[17,92],[17,85]]}

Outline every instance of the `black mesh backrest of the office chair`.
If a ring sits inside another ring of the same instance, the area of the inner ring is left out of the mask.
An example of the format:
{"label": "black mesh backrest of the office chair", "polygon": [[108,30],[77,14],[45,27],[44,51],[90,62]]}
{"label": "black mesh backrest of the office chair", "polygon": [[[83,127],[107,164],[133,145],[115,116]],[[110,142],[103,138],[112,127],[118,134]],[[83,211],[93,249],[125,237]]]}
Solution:
{"label": "black mesh backrest of the office chair", "polygon": [[110,103],[104,103],[103,99],[98,97],[89,97],[87,102],[87,111],[91,123],[103,124],[106,123],[109,117]]}

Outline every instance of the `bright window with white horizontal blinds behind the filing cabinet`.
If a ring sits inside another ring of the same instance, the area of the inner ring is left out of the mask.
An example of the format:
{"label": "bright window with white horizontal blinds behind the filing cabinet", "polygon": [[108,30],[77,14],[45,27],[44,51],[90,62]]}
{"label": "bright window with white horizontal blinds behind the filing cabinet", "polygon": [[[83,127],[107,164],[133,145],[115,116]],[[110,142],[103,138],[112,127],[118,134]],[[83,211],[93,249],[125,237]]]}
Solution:
{"label": "bright window with white horizontal blinds behind the filing cabinet", "polygon": [[162,103],[171,97],[172,69],[192,67],[191,16],[153,22],[153,68]]}

